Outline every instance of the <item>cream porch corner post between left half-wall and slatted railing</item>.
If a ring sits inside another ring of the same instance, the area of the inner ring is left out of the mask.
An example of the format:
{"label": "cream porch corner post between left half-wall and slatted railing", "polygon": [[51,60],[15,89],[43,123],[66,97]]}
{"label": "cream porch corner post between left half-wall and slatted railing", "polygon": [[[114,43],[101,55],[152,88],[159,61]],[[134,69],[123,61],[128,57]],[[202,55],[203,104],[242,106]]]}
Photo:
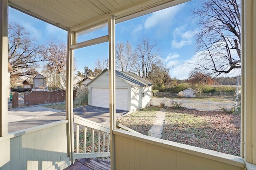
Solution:
{"label": "cream porch corner post between left half-wall and slatted railing", "polygon": [[73,118],[73,72],[74,51],[70,46],[75,42],[75,33],[68,30],[67,64],[66,64],[66,119],[68,120],[68,154],[72,164],[74,158],[74,118]]}

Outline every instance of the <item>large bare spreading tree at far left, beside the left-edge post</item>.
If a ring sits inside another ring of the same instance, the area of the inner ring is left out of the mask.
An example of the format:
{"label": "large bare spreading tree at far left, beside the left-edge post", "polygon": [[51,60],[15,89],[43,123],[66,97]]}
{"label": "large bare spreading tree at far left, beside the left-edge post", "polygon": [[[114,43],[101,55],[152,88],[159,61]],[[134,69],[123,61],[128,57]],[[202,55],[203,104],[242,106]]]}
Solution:
{"label": "large bare spreading tree at far left, beside the left-edge post", "polygon": [[30,38],[26,29],[18,23],[9,24],[8,42],[8,61],[14,69],[11,81],[19,79],[20,76],[28,78],[38,74],[35,68],[38,68],[38,62],[43,60],[43,46]]}

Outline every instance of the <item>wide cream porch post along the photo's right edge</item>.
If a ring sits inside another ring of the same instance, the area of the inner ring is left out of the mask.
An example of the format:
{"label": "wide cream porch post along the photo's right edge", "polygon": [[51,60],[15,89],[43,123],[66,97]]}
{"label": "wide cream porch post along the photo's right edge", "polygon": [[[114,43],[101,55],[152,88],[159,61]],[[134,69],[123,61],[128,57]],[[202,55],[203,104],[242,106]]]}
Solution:
{"label": "wide cream porch post along the photo's right edge", "polygon": [[241,157],[256,168],[256,1],[242,0],[241,14]]}

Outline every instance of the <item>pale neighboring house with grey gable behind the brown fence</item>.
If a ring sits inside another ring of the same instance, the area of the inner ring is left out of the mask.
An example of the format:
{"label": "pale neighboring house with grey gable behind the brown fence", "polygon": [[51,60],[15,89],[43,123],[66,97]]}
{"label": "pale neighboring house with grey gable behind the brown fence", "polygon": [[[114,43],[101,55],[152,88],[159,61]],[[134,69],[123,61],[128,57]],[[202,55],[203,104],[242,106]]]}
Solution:
{"label": "pale neighboring house with grey gable behind the brown fence", "polygon": [[[74,75],[74,88],[77,83],[82,80],[81,77]],[[33,78],[34,87],[58,86],[59,88],[66,88],[66,75],[65,74],[44,74],[39,73]]]}

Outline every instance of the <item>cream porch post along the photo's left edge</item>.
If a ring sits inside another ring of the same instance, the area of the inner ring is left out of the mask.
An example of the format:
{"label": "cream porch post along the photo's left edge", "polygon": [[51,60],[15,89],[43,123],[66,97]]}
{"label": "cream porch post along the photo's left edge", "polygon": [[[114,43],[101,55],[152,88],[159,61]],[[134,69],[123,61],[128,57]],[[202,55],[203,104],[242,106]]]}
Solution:
{"label": "cream porch post along the photo's left edge", "polygon": [[8,134],[8,0],[0,0],[0,136]]}

